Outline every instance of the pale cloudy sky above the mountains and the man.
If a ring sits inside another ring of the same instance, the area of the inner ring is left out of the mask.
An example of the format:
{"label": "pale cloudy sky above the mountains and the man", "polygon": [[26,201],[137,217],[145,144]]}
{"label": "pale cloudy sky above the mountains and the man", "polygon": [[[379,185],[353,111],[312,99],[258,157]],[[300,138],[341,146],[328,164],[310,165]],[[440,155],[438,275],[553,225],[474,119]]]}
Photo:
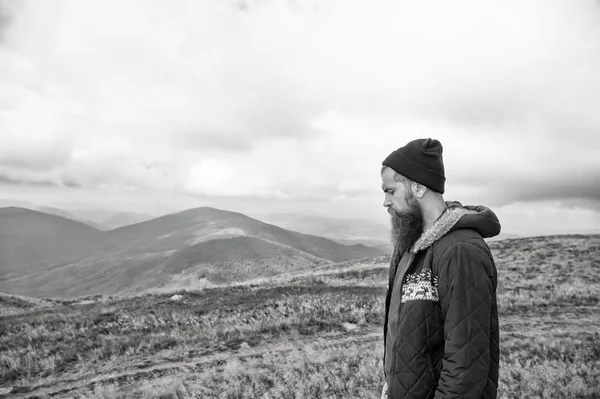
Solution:
{"label": "pale cloudy sky above the mountains and the man", "polygon": [[0,199],[385,221],[444,146],[503,231],[600,230],[598,1],[0,0]]}

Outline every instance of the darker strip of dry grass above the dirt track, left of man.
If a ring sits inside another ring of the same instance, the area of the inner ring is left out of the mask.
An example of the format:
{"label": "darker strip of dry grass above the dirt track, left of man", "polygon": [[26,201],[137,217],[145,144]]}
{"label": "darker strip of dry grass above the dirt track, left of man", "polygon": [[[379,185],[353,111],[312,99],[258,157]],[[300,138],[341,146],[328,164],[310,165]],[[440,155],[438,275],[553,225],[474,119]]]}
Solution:
{"label": "darker strip of dry grass above the dirt track, left of man", "polygon": [[185,293],[183,302],[147,296],[6,316],[0,377],[49,383],[124,362],[255,346],[283,333],[342,332],[343,323],[381,323],[382,300],[381,289],[238,287]]}

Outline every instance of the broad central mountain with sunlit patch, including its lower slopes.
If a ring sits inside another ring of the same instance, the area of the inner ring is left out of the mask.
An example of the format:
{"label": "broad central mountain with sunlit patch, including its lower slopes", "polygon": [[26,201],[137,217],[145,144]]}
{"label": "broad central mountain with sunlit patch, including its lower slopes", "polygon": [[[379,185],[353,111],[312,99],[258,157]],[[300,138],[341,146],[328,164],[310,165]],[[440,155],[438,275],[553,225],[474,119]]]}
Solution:
{"label": "broad central mountain with sunlit patch, including its lower slopes", "polygon": [[381,255],[375,248],[343,245],[215,208],[190,209],[111,231],[85,227],[94,232],[88,242],[82,233],[77,249],[60,247],[68,248],[63,259],[72,253],[78,259],[35,266],[15,259],[21,273],[13,267],[9,278],[0,277],[0,291],[32,297],[117,293],[160,288],[181,278],[243,281]]}

